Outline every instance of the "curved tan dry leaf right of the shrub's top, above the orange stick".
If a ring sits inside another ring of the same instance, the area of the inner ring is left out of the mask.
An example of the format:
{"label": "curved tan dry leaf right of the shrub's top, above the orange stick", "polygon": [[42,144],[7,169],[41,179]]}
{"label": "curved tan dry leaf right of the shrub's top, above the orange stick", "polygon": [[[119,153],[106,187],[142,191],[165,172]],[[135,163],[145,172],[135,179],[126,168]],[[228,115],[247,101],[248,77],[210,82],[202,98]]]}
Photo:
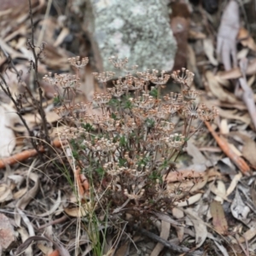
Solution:
{"label": "curved tan dry leaf right of the shrub's top, above the orange stick", "polygon": [[224,90],[221,84],[218,83],[218,80],[216,79],[216,77],[211,71],[207,71],[205,73],[205,76],[207,78],[207,82],[210,90],[212,91],[212,94],[218,97],[219,101],[230,102],[230,103],[237,102],[236,96],[231,94],[229,91]]}

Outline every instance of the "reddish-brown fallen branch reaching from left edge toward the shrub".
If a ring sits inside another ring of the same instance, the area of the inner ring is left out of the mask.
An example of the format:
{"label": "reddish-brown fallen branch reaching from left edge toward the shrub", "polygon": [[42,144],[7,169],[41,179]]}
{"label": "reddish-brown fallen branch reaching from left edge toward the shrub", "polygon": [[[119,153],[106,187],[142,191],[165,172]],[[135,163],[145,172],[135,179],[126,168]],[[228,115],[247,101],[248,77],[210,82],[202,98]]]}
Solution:
{"label": "reddish-brown fallen branch reaching from left edge toward the shrub", "polygon": [[[61,145],[63,145],[63,144],[65,144],[65,143],[63,143],[61,141],[54,141],[52,143],[52,146],[54,148],[61,148]],[[44,153],[45,148],[38,148],[38,151],[40,153]],[[4,168],[6,165],[12,166],[18,162],[27,160],[28,158],[37,155],[38,151],[36,149],[28,149],[28,150],[22,151],[18,154],[14,154],[7,158],[1,159],[0,160],[0,169]]]}

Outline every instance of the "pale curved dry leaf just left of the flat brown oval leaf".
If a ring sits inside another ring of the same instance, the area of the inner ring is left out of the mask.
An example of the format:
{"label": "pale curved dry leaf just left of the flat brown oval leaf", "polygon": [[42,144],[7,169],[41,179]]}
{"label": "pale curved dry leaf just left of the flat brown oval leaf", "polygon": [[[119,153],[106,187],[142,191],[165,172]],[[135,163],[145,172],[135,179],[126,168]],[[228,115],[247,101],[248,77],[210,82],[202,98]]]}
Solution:
{"label": "pale curved dry leaf just left of the flat brown oval leaf", "polygon": [[201,247],[201,245],[207,239],[207,225],[201,220],[201,218],[198,216],[198,213],[193,209],[187,208],[183,211],[187,213],[189,219],[194,225],[196,247]]}

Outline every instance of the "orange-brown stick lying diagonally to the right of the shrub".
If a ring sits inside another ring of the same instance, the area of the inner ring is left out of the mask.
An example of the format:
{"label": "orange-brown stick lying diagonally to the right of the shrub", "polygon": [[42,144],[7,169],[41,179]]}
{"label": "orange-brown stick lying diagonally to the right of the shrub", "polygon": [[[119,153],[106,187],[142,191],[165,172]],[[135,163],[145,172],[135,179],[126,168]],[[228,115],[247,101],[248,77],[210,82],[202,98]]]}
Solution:
{"label": "orange-brown stick lying diagonally to the right of the shrub", "polygon": [[212,133],[212,137],[216,140],[218,143],[219,148],[222,149],[224,154],[226,154],[230,160],[232,160],[235,165],[238,167],[238,169],[245,175],[249,175],[250,167],[247,165],[246,161],[243,160],[239,155],[237,155],[229,146],[227,141],[224,139],[224,137],[219,137],[216,131],[212,129],[212,125],[210,125],[209,122],[205,122],[207,125],[208,130]]}

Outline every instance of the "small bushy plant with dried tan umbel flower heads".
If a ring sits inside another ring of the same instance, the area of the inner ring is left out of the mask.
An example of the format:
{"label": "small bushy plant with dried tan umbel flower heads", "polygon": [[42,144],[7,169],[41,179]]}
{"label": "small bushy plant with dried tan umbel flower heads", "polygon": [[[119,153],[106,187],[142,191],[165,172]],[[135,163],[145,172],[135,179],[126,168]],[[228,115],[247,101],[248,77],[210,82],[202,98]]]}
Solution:
{"label": "small bushy plant with dried tan umbel flower heads", "polygon": [[[114,56],[109,60],[126,74],[107,89],[114,73],[94,73],[105,92],[96,93],[90,103],[69,100],[79,87],[79,68],[88,59],[69,60],[78,68],[74,76],[55,74],[52,78],[49,74],[44,79],[63,88],[63,95],[58,96],[62,105],[55,109],[67,124],[60,136],[70,143],[76,164],[90,181],[88,200],[108,207],[109,216],[121,218],[123,212],[132,211],[145,218],[152,209],[165,212],[175,201],[186,199],[188,193],[179,186],[175,191],[168,189],[165,177],[176,171],[175,161],[189,137],[218,112],[195,101],[199,92],[190,90],[194,74],[189,70],[172,73],[172,79],[181,84],[181,93],[161,96],[171,75],[147,70],[133,76],[127,72],[127,59]],[[154,86],[149,89],[150,83]],[[182,129],[172,123],[175,115],[183,119]],[[177,182],[183,182],[178,174]],[[95,211],[101,212],[101,207]]]}

